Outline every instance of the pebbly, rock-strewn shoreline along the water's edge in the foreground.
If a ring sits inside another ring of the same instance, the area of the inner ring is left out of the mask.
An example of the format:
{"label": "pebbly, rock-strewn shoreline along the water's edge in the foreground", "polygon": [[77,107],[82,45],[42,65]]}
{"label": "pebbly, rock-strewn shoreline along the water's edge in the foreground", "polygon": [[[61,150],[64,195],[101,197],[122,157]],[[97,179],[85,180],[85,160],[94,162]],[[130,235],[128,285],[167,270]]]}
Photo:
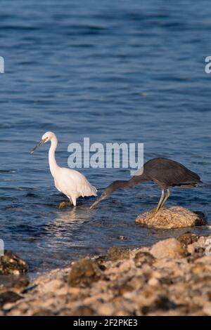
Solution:
{"label": "pebbly, rock-strewn shoreline along the water's edge in the foreground", "polygon": [[0,257],[0,315],[211,315],[210,246],[211,235],[187,232],[150,247],[113,247],[30,283],[24,261],[7,254],[13,271],[3,275]]}

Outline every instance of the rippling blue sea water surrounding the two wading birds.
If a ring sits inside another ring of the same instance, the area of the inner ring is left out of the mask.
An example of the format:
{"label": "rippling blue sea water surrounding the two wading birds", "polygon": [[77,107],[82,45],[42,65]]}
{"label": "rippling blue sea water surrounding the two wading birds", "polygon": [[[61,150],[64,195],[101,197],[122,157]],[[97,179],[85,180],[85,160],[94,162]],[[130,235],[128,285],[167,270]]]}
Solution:
{"label": "rippling blue sea water surrounding the two wading birds", "polygon": [[[155,207],[152,183],[119,190],[89,211],[94,198],[65,200],[49,172],[69,143],[144,143],[144,159],[168,157],[204,184],[172,190],[169,205],[203,211],[211,225],[210,1],[3,0],[0,12],[0,238],[31,272],[63,266],[110,246],[143,246],[185,230],[148,230],[136,216]],[[81,169],[99,193],[126,169]],[[193,232],[208,232],[198,227]],[[118,237],[126,239],[120,241]]]}

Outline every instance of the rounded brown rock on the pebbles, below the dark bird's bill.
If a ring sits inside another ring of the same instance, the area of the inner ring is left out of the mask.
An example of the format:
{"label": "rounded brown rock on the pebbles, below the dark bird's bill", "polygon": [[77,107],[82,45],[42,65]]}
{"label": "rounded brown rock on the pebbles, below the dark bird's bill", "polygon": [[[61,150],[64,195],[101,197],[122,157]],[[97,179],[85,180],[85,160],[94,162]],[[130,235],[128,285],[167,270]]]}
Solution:
{"label": "rounded brown rock on the pebbles, below the dark bird's bill", "polygon": [[102,271],[95,260],[80,259],[72,265],[68,276],[70,286],[90,286],[103,277]]}

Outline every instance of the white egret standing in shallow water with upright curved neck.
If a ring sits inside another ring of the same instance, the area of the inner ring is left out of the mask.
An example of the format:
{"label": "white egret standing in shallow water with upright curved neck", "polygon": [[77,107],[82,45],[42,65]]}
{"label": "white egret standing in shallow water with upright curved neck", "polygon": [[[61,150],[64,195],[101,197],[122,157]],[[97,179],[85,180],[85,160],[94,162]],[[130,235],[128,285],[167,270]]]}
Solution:
{"label": "white egret standing in shallow water with upright curved neck", "polygon": [[34,147],[31,154],[33,154],[37,147],[41,147],[41,145],[44,145],[44,143],[48,141],[51,141],[51,147],[49,148],[49,166],[51,175],[54,178],[56,189],[59,192],[63,192],[63,194],[70,199],[70,203],[60,203],[59,208],[63,208],[66,204],[73,204],[76,206],[76,199],[80,196],[96,196],[96,187],[91,185],[82,173],[79,173],[73,169],[66,169],[58,166],[55,158],[58,140],[56,138],[56,134],[53,132],[44,133],[41,141]]}

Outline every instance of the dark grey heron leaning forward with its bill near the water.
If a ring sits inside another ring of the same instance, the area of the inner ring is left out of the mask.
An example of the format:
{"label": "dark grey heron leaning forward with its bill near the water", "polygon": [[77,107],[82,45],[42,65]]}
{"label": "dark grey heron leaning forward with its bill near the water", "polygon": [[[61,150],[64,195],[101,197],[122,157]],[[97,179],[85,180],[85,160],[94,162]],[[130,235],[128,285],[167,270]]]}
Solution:
{"label": "dark grey heron leaning forward with its bill near the water", "polygon": [[[187,169],[177,161],[161,157],[153,158],[143,165],[143,173],[140,176],[133,176],[127,181],[117,180],[108,185],[108,187],[103,190],[101,197],[91,205],[90,209],[93,209],[94,206],[117,189],[134,187],[135,185],[139,185],[139,183],[147,181],[157,183],[161,189],[161,196],[155,213],[161,209],[170,197],[170,187],[196,187],[198,183],[202,183],[198,174]],[[167,191],[166,196],[165,191]]]}

